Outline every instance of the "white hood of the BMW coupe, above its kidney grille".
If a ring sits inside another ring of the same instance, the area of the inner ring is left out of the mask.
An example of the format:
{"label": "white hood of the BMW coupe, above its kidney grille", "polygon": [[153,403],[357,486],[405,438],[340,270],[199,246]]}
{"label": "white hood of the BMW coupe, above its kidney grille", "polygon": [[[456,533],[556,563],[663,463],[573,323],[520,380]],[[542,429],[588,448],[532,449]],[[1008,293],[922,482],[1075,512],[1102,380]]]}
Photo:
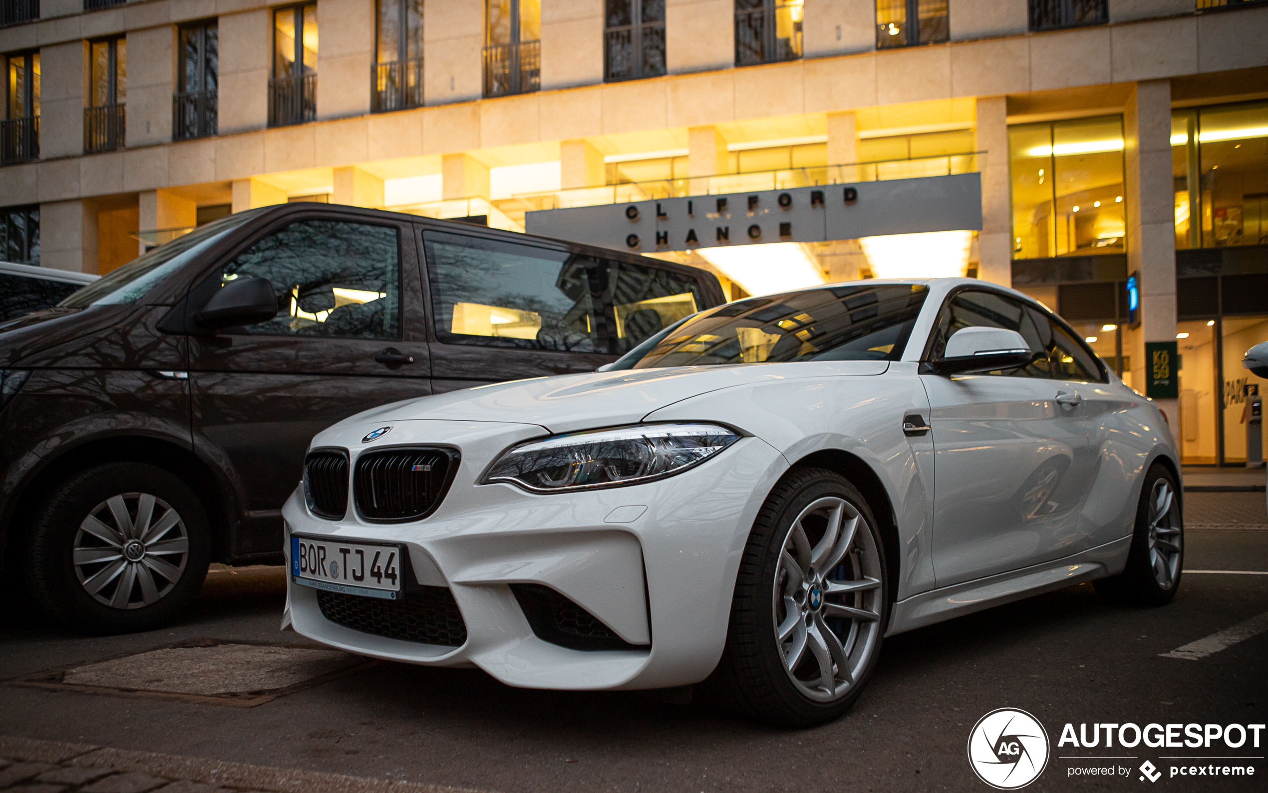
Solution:
{"label": "white hood of the BMW coupe, above its kidney grille", "polygon": [[393,402],[336,426],[413,419],[536,424],[569,433],[633,424],[654,410],[718,391],[775,379],[884,374],[885,360],[833,360],[590,372],[477,386]]}

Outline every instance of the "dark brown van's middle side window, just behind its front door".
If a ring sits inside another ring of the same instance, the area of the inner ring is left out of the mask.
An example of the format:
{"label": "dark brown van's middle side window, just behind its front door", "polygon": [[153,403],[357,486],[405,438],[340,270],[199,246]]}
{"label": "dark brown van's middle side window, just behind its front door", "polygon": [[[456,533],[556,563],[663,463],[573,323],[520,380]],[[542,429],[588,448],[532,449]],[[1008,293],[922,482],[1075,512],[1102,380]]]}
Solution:
{"label": "dark brown van's middle side window, just behind its front door", "polygon": [[435,231],[424,246],[436,338],[445,344],[607,351],[595,259]]}

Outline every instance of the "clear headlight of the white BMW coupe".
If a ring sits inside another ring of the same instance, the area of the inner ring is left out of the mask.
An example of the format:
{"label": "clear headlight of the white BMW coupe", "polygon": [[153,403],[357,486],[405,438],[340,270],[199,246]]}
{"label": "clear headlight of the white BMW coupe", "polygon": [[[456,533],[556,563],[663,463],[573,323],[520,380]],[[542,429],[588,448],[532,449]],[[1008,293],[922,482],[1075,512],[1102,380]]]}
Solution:
{"label": "clear headlight of the white BMW coupe", "polygon": [[638,485],[681,473],[739,440],[715,424],[642,424],[571,433],[507,449],[483,483],[510,482],[533,492]]}

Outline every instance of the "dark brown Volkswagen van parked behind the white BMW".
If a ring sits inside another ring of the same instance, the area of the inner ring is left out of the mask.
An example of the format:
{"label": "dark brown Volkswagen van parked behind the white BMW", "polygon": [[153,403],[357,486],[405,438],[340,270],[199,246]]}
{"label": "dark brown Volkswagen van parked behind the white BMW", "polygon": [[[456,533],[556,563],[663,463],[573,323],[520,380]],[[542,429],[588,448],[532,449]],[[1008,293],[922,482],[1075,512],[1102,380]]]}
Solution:
{"label": "dark brown Volkswagen van parked behind the white BMW", "polygon": [[309,439],[354,412],[592,370],[723,302],[702,270],[330,204],[221,218],[0,325],[0,529],[52,617],[176,614],[281,562]]}

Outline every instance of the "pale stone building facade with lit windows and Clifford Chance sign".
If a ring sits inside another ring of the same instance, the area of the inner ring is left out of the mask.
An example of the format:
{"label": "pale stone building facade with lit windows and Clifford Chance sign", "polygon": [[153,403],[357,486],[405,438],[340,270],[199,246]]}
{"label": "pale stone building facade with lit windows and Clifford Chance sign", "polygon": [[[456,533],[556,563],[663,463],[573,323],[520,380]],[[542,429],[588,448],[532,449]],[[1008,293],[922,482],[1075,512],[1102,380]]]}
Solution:
{"label": "pale stone building facade with lit windows and Clifford Chance sign", "polygon": [[[1175,343],[1178,388],[1159,393],[1186,462],[1245,462],[1239,360],[1268,339],[1268,3],[0,8],[6,260],[108,273],[288,200],[520,231],[588,212],[618,218],[612,246],[706,266],[734,297],[1009,284],[1142,392]],[[671,202],[711,213],[704,239]],[[803,204],[813,233],[748,220]],[[631,206],[642,235],[620,226]]]}

